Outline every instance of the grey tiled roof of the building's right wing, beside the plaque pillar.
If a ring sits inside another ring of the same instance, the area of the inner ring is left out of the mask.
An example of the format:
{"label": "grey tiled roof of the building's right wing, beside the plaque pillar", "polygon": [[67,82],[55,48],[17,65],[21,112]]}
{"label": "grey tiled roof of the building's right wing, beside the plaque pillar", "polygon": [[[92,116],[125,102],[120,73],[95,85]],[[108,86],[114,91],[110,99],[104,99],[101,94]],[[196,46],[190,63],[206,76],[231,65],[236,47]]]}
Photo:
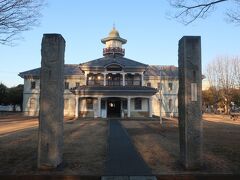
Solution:
{"label": "grey tiled roof of the building's right wing, beside the plaque pillar", "polygon": [[149,65],[145,75],[178,78],[178,68],[176,66]]}

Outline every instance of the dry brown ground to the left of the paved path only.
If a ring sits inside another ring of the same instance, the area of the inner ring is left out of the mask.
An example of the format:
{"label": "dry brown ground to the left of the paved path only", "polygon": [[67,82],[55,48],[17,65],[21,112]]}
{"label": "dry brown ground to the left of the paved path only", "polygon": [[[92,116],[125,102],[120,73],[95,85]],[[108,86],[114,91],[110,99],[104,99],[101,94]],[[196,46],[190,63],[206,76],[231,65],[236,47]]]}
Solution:
{"label": "dry brown ground to the left of the paved path only", "polygon": [[37,118],[0,116],[0,174],[103,174],[107,121],[65,121],[62,171],[37,170],[37,133]]}

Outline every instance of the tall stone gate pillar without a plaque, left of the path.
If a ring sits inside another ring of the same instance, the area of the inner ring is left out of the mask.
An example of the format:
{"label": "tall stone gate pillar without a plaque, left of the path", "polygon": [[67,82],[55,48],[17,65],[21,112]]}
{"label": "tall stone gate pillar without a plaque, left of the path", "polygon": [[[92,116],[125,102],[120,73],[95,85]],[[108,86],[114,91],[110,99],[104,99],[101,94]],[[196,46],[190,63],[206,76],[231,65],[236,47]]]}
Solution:
{"label": "tall stone gate pillar without a plaque, left of the path", "polygon": [[40,74],[38,168],[62,163],[65,40],[60,34],[44,34]]}

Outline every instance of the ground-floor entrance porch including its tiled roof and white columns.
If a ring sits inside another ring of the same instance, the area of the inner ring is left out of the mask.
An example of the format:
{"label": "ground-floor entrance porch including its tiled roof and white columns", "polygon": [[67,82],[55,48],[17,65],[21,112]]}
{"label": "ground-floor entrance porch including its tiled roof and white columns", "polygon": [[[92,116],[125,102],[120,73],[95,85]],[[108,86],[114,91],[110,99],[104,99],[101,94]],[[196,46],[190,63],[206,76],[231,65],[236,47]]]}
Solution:
{"label": "ground-floor entrance porch including its tiled roof and white columns", "polygon": [[75,94],[75,117],[130,118],[152,117],[150,87],[78,87]]}

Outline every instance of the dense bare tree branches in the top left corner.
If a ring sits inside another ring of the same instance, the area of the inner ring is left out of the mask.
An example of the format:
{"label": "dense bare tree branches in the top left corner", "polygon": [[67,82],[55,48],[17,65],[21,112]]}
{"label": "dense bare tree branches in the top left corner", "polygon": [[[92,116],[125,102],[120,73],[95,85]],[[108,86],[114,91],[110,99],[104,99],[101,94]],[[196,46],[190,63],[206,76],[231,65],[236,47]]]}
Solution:
{"label": "dense bare tree branches in the top left corner", "polygon": [[44,0],[0,0],[0,44],[10,45],[37,26],[43,6]]}

